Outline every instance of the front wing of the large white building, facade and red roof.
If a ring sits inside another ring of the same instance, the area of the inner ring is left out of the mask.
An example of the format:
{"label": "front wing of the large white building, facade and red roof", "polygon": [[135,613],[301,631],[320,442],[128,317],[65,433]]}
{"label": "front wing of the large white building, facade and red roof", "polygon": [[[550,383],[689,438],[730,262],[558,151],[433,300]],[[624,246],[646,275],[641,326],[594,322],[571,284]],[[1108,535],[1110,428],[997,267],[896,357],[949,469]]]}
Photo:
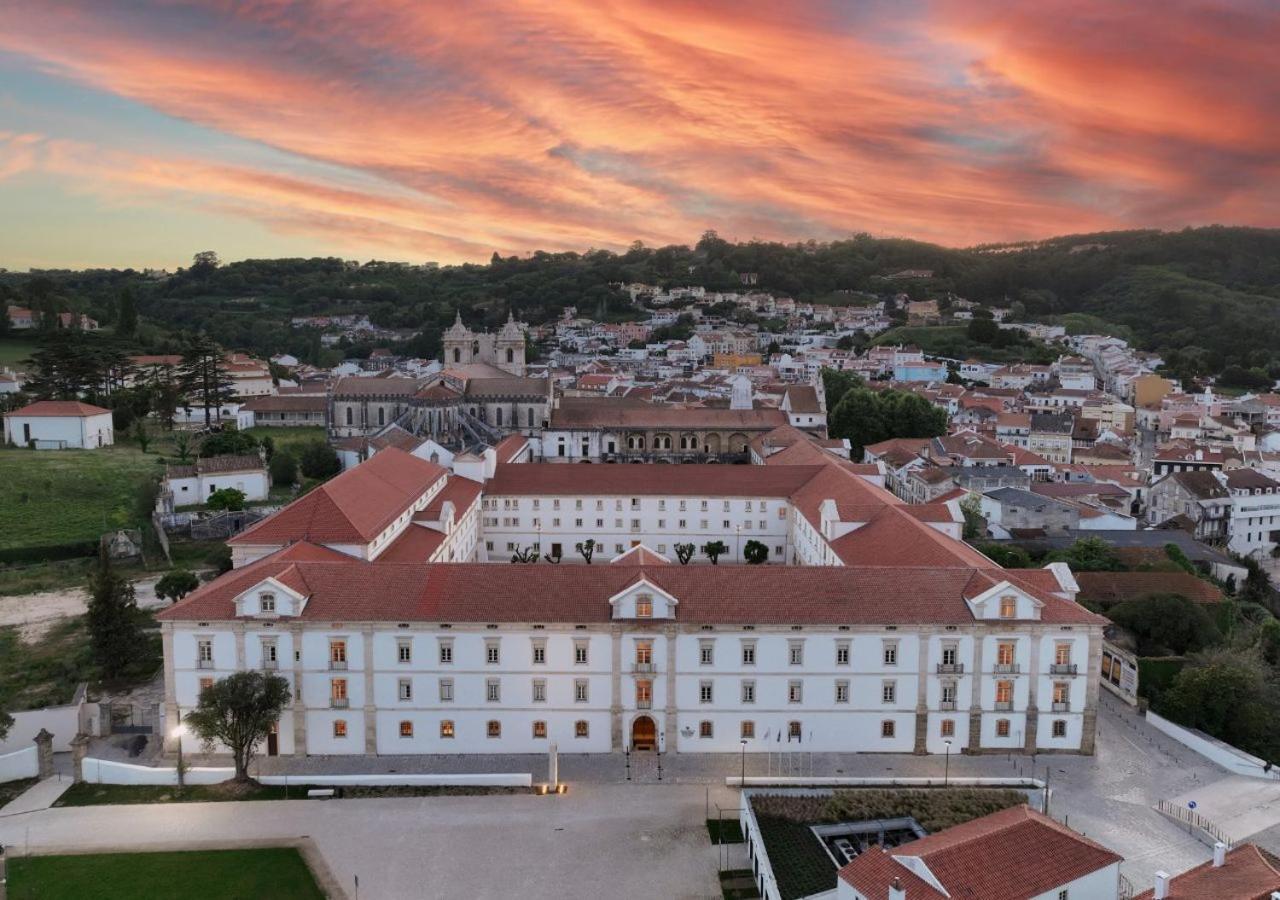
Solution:
{"label": "front wing of the large white building, facade and red roof", "polygon": [[269,753],[1093,749],[1105,620],[1051,570],[367,562],[308,543],[160,613],[166,716],[270,670]]}

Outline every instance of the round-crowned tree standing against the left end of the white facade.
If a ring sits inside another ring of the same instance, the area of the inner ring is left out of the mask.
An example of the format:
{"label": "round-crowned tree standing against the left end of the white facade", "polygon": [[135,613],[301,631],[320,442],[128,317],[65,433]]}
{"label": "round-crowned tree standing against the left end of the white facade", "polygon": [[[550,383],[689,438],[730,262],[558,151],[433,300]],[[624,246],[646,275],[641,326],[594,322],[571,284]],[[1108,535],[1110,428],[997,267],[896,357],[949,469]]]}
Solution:
{"label": "round-crowned tree standing against the left end of the white facade", "polygon": [[257,745],[266,740],[288,705],[289,682],[269,672],[236,672],[200,691],[200,705],[183,722],[206,751],[221,744],[236,760],[236,781],[248,781]]}

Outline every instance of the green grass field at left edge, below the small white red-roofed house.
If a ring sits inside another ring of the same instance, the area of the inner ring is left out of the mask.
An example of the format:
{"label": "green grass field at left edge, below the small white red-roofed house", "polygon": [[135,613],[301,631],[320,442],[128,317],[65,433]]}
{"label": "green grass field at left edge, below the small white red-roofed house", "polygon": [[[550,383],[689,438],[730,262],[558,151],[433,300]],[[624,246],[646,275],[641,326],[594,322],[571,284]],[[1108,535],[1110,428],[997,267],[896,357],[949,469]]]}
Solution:
{"label": "green grass field at left edge, below the small white red-roofed house", "polygon": [[136,446],[0,449],[0,550],[91,543],[137,527],[141,485],[164,474],[160,460]]}

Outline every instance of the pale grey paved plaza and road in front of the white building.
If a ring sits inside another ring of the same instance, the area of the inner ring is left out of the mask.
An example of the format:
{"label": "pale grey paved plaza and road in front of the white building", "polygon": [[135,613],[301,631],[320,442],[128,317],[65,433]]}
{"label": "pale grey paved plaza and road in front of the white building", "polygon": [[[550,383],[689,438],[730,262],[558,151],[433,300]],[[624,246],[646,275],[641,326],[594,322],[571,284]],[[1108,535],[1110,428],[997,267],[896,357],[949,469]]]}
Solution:
{"label": "pale grey paved plaza and road in front of the white building", "polygon": [[[1156,869],[1179,872],[1210,858],[1198,839],[1152,809],[1160,799],[1203,798],[1201,812],[1224,818],[1249,789],[1268,787],[1228,776],[1212,763],[1151,728],[1119,700],[1103,695],[1094,757],[952,755],[955,776],[1048,776],[1050,813],[1125,856],[1123,873],[1137,890]],[[214,762],[214,760],[211,760]],[[224,760],[216,760],[224,762]],[[724,785],[741,757],[657,758],[561,755],[567,795],[438,796],[369,800],[293,800],[47,809],[5,816],[0,842],[33,850],[65,846],[180,846],[218,840],[283,840],[308,836],[348,891],[360,896],[497,897],[714,897],[716,848],[703,818],[705,804],[736,808]],[[799,773],[815,776],[942,777],[936,757],[794,754]],[[765,754],[748,754],[748,775],[764,775]],[[531,772],[545,780],[545,757],[380,757],[262,760],[264,773],[296,772]],[[1206,805],[1207,804],[1207,805]],[[1280,851],[1280,809],[1251,804],[1234,824],[1257,828],[1262,846]],[[1275,812],[1272,812],[1275,810]],[[714,814],[714,812],[713,812]],[[1212,818],[1212,816],[1210,816]],[[1224,824],[1224,823],[1220,823]],[[1225,824],[1224,824],[1225,827]],[[1228,833],[1235,840],[1249,837]]]}

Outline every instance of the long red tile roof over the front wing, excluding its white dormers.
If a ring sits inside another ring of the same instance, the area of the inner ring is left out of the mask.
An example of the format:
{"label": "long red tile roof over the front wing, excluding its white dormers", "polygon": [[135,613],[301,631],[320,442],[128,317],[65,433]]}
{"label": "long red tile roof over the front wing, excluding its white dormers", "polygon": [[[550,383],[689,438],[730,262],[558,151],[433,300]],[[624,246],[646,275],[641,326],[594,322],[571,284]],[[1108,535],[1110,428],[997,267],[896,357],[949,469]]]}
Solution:
{"label": "long red tile roof over the front wing, excluding its white dormers", "polygon": [[[160,618],[233,618],[238,594],[282,574],[306,585],[310,600],[302,618],[319,621],[608,622],[609,598],[644,577],[680,600],[677,620],[682,622],[963,625],[974,621],[965,597],[1009,575],[989,562],[986,570],[413,565],[353,557],[303,562],[285,553],[232,570],[165,609]],[[530,590],[532,584],[538,590]],[[1106,622],[1070,600],[1047,591],[1030,593],[1044,604],[1044,622]]]}

